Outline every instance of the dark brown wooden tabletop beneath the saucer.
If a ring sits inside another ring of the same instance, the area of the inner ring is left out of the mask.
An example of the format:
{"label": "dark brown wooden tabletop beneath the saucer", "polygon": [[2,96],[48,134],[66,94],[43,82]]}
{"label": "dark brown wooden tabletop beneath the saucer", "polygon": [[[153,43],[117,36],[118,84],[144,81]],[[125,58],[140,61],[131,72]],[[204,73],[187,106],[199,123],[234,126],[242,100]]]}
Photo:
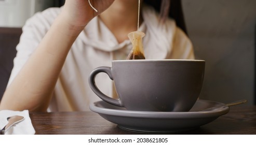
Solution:
{"label": "dark brown wooden tabletop beneath the saucer", "polygon": [[[31,112],[36,134],[145,134],[120,129],[95,112]],[[182,133],[170,134],[256,134],[256,106],[234,106],[217,120]]]}

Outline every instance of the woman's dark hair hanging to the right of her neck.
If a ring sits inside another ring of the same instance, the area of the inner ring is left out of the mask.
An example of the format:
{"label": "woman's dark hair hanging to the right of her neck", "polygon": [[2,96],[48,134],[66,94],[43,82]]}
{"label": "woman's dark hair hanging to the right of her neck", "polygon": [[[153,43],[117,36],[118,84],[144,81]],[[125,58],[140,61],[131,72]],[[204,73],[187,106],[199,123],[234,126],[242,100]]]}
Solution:
{"label": "woman's dark hair hanging to the right of her neck", "polygon": [[165,21],[167,17],[174,19],[187,34],[181,0],[143,0],[143,2],[154,7],[160,13],[162,21]]}

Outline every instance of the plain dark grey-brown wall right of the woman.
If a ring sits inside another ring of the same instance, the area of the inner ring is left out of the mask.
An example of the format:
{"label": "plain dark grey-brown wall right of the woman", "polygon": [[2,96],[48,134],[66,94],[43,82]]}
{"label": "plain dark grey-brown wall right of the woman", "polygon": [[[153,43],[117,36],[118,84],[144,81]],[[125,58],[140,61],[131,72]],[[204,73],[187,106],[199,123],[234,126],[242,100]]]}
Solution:
{"label": "plain dark grey-brown wall right of the woman", "polygon": [[206,60],[200,98],[255,104],[254,0],[182,0],[197,59]]}

